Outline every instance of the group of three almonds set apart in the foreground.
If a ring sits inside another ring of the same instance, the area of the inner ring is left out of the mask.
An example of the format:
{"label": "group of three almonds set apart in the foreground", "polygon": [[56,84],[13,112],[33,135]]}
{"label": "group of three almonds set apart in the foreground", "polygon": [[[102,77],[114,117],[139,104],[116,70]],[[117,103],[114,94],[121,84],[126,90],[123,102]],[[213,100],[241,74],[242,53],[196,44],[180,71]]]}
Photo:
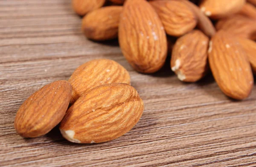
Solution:
{"label": "group of three almonds set apart in the foreground", "polygon": [[32,94],[17,111],[14,127],[19,135],[35,138],[60,123],[68,141],[100,143],[131,130],[143,109],[128,71],[98,59],[79,66],[69,81],[49,83]]}

